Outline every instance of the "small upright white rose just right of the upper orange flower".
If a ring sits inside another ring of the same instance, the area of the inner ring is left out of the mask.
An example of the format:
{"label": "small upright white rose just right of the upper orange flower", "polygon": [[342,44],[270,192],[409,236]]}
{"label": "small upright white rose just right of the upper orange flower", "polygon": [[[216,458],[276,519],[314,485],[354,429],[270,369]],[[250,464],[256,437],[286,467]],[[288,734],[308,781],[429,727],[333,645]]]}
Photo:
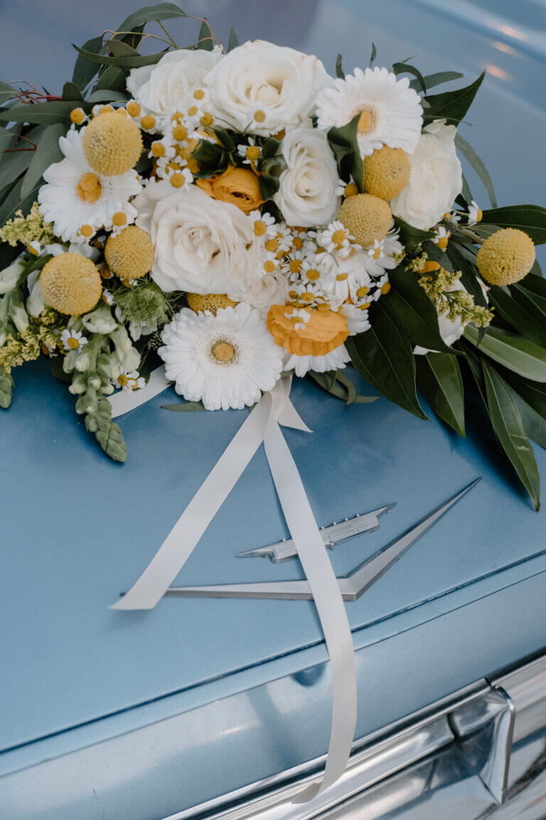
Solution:
{"label": "small upright white rose just right of the upper orange flower", "polygon": [[336,160],[324,131],[298,128],[282,140],[287,168],[273,199],[288,225],[327,225],[339,211],[341,197]]}

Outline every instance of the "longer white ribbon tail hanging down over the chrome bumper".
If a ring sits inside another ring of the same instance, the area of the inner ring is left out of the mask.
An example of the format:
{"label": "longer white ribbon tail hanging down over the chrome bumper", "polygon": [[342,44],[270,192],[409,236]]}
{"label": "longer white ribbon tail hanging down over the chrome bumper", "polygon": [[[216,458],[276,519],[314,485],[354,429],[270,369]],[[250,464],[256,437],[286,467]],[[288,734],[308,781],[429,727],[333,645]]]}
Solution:
{"label": "longer white ribbon tail hanging down over the chrome bumper", "polygon": [[[279,418],[280,421],[280,418]],[[305,803],[332,786],[345,771],[356,727],[354,646],[345,604],[309,499],[274,414],[264,438],[265,453],[282,512],[309,581],[332,669],[332,731],[323,780],[296,795]]]}

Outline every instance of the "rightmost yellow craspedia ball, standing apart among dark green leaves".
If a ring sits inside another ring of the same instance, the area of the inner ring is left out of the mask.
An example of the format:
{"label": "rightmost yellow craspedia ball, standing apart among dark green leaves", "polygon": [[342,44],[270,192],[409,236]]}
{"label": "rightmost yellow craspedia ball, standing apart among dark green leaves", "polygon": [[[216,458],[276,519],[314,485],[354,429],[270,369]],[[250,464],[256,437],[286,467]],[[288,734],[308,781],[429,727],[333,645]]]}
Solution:
{"label": "rightmost yellow craspedia ball, standing apart among dark green leaves", "polygon": [[490,285],[513,285],[535,262],[535,245],[525,231],[503,228],[485,239],[476,257],[478,271]]}

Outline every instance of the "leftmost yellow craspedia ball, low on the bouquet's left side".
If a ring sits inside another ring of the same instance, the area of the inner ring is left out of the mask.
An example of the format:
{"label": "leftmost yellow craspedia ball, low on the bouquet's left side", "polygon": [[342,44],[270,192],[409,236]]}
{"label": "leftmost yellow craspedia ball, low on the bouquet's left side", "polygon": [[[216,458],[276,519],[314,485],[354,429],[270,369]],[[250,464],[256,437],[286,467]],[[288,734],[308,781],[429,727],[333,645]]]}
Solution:
{"label": "leftmost yellow craspedia ball, low on the bouquet's left side", "polygon": [[68,316],[92,310],[102,294],[100,273],[81,253],[61,253],[46,262],[40,285],[44,302]]}

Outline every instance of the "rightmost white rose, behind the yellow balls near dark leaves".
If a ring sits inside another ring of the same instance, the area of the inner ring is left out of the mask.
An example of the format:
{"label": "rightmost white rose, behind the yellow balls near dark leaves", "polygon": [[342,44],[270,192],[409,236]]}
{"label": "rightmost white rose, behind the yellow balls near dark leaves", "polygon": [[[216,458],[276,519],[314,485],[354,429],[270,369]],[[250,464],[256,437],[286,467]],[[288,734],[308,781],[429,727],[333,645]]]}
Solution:
{"label": "rightmost white rose, behind the yellow balls near dark leaves", "polygon": [[408,225],[428,230],[451,210],[463,190],[463,171],[455,152],[454,125],[435,120],[427,125],[417,148],[409,155],[408,185],[390,203],[395,216]]}

